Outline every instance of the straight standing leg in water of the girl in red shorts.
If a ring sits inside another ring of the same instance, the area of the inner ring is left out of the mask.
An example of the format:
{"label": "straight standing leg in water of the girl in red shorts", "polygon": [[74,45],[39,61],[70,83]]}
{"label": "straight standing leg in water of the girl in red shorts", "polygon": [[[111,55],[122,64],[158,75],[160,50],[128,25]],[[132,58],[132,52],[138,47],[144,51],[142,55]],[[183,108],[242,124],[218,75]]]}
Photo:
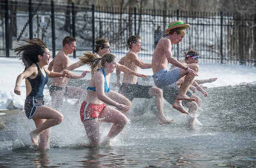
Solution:
{"label": "straight standing leg in water of the girl in red shorts", "polygon": [[86,135],[90,140],[90,145],[96,147],[100,143],[100,123],[98,119],[84,121]]}

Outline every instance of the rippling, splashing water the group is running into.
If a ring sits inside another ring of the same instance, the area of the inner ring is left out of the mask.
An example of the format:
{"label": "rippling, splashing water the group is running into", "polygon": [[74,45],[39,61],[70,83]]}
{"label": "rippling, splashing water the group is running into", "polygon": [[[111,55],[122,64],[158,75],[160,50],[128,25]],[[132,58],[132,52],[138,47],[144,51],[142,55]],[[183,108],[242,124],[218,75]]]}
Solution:
{"label": "rippling, splashing water the group is running into", "polygon": [[[78,111],[67,105],[63,115],[68,119],[51,130],[51,150],[12,151],[13,136],[25,135],[33,128],[33,123],[24,123],[26,118],[19,114],[12,119],[15,124],[7,124],[0,131],[0,167],[254,167],[256,86],[220,87],[207,92],[207,98],[199,95],[203,101],[197,119],[204,126],[194,128],[186,128],[187,116],[167,102],[164,114],[175,122],[160,126],[154,108],[148,106],[154,99],[135,99],[127,114],[131,124],[109,148],[84,145],[88,140]],[[110,124],[101,127],[103,136]]]}

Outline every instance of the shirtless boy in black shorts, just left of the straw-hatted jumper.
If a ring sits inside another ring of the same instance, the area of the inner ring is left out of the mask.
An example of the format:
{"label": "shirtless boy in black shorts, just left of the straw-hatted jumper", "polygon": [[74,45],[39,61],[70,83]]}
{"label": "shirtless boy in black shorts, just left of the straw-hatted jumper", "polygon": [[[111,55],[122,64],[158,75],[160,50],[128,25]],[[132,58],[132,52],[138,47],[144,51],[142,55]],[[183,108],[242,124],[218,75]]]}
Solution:
{"label": "shirtless boy in black shorts, just left of the straw-hatted jumper", "polygon": [[[151,63],[142,62],[137,53],[140,52],[142,47],[140,36],[130,36],[127,39],[127,45],[130,51],[121,58],[119,64],[126,66],[127,68],[138,73],[138,67],[141,69],[152,68]],[[120,70],[116,70],[117,83],[120,82]],[[123,83],[120,87],[119,92],[123,94],[126,98],[132,101],[133,98],[146,98],[150,99],[152,97],[156,98],[156,106],[158,111],[158,122],[162,124],[171,124],[173,120],[166,120],[163,113],[163,91],[159,88],[153,86],[140,85],[137,82],[137,77],[135,75],[124,72]]]}

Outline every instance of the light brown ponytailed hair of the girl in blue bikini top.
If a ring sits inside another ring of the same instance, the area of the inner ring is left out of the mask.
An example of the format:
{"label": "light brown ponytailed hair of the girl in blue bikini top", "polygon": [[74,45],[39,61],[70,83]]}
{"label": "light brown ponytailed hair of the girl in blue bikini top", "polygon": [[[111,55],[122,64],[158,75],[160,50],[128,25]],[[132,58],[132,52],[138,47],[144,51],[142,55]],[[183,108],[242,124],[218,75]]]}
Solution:
{"label": "light brown ponytailed hair of the girl in blue bikini top", "polygon": [[105,54],[102,58],[100,58],[98,55],[92,54],[91,52],[84,53],[84,56],[81,56],[80,62],[84,64],[88,64],[91,69],[95,68],[99,62],[101,61],[101,66],[105,67],[105,62],[112,62],[116,58],[113,54]]}

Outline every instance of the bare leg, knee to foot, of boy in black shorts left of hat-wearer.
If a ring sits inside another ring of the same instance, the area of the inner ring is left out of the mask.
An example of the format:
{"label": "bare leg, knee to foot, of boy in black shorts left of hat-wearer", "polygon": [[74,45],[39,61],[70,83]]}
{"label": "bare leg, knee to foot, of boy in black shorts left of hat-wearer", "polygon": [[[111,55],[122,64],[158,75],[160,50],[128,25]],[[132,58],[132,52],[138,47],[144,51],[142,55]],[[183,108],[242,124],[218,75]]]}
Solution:
{"label": "bare leg, knee to foot, of boy in black shorts left of hat-wearer", "polygon": [[166,120],[164,118],[164,111],[163,111],[163,91],[156,87],[151,87],[148,91],[148,94],[150,96],[154,96],[156,98],[156,107],[158,111],[158,123],[160,125],[163,124],[171,124],[173,120]]}

